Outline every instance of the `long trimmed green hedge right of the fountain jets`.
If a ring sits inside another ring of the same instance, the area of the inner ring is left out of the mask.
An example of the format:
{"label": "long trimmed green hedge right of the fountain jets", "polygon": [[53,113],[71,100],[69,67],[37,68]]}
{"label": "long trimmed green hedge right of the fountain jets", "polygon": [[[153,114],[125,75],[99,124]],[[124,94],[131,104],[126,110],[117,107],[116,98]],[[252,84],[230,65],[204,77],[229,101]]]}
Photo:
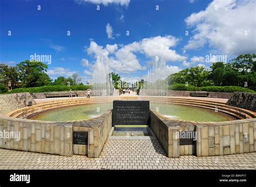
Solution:
{"label": "long trimmed green hedge right of the fountain jets", "polygon": [[252,89],[240,87],[240,86],[204,86],[194,87],[185,86],[184,84],[169,85],[169,89],[176,91],[205,91],[205,92],[249,92],[256,93]]}

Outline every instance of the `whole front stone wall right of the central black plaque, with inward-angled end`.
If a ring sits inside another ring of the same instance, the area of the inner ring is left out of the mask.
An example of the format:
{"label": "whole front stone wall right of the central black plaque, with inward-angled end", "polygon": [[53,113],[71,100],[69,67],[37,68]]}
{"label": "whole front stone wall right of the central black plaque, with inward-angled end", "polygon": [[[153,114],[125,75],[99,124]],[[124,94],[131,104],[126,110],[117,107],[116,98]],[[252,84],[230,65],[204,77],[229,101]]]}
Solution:
{"label": "whole front stone wall right of the central black plaque, with inward-angled end", "polygon": [[[151,128],[169,157],[217,156],[256,151],[255,118],[226,122],[196,122],[168,119],[151,110],[151,120]],[[193,145],[180,146],[177,131],[196,131],[197,140]]]}

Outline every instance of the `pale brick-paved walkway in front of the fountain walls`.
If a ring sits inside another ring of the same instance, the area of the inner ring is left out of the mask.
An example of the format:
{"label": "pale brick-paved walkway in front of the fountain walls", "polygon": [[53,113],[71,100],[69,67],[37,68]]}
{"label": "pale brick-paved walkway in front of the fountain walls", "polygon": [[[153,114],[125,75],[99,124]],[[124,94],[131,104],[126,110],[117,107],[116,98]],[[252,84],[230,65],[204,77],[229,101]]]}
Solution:
{"label": "pale brick-paved walkway in front of the fountain walls", "polygon": [[0,149],[0,169],[256,169],[256,153],[168,158],[158,140],[107,140],[99,158]]}

